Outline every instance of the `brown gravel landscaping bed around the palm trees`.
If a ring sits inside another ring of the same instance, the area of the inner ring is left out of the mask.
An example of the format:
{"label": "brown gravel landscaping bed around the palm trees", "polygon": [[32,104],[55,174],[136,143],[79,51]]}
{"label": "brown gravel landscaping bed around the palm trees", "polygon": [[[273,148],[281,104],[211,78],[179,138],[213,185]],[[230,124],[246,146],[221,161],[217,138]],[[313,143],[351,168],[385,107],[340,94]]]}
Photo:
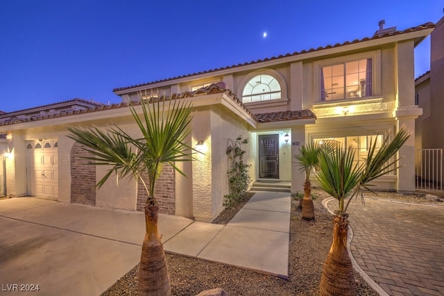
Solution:
{"label": "brown gravel landscaping bed around the palm trees", "polygon": [[[223,288],[230,295],[318,295],[323,261],[332,243],[332,216],[321,205],[327,198],[321,190],[313,190],[317,195],[315,204],[316,220],[307,222],[301,219],[298,201],[291,201],[289,279],[280,279],[250,270],[234,268],[222,263],[214,263],[198,258],[167,254],[173,295],[197,295],[203,290]],[[395,199],[404,202],[442,204],[441,192],[427,192],[402,195],[395,192],[378,192],[377,198]],[[366,196],[375,196],[368,194]],[[226,210],[214,220],[225,224],[244,206],[247,200],[230,210]],[[137,295],[138,265],[119,279],[103,296]],[[355,273],[358,295],[378,295]]]}

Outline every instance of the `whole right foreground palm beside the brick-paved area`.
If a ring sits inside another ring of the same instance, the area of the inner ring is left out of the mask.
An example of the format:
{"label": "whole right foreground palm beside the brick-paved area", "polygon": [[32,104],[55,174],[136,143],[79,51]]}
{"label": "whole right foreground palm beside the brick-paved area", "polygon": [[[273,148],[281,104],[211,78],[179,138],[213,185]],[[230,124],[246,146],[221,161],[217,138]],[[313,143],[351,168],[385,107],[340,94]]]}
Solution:
{"label": "whole right foreground palm beside the brick-paved area", "polygon": [[352,197],[370,190],[368,183],[379,176],[397,170],[398,159],[393,156],[409,138],[409,133],[401,129],[391,140],[382,142],[378,149],[377,141],[370,140],[366,161],[358,165],[354,162],[355,151],[350,147],[322,149],[319,154],[319,186],[338,201],[338,211],[333,217],[333,242],[324,263],[321,276],[320,295],[356,295],[356,283],[352,262],[348,256],[348,213]]}

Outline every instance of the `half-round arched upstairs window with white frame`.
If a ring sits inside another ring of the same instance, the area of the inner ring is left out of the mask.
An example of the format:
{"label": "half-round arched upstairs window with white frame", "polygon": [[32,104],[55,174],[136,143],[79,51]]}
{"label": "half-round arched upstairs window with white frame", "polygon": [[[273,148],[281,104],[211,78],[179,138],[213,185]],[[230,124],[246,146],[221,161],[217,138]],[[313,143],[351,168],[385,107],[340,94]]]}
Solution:
{"label": "half-round arched upstairs window with white frame", "polygon": [[253,103],[281,99],[282,89],[278,79],[269,74],[259,74],[250,79],[242,92],[242,102]]}

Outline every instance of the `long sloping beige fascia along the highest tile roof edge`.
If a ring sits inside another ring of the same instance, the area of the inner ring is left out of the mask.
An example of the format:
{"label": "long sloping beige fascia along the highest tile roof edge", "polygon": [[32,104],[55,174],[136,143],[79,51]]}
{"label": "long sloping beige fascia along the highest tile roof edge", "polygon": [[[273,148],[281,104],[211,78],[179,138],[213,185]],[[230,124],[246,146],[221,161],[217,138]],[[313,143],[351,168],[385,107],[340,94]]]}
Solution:
{"label": "long sloping beige fascia along the highest tile roof edge", "polygon": [[[251,71],[254,69],[261,69],[265,67],[273,67],[275,65],[285,64],[285,63],[293,63],[299,60],[307,60],[312,58],[319,58],[321,56],[330,56],[332,54],[339,54],[341,52],[346,51],[355,51],[357,49],[365,49],[370,47],[377,47],[382,44],[389,44],[394,42],[402,42],[405,40],[414,40],[416,38],[426,38],[430,33],[432,33],[434,28],[428,28],[423,29],[420,31],[414,31],[410,33],[402,33],[398,35],[388,36],[388,37],[382,37],[377,38],[373,40],[366,40],[366,41],[359,41],[357,43],[350,43],[345,45],[340,45],[338,47],[330,47],[330,48],[323,48],[319,50],[309,51],[305,52],[303,54],[296,54],[295,56],[288,56],[284,58],[274,58],[273,60],[264,60],[259,63],[253,63],[249,65],[239,66],[239,67],[230,67],[230,69],[220,69],[215,70],[212,72],[202,73],[202,74],[190,74],[186,77],[181,77],[178,79],[171,79],[167,81],[160,81],[158,83],[152,83],[148,85],[141,85],[135,88],[126,88],[125,90],[117,90],[114,92],[114,94],[121,95],[121,94],[130,94],[133,92],[138,92],[140,90],[146,90],[151,88],[162,88],[164,86],[169,86],[173,84],[178,83],[185,83],[192,80],[197,79],[204,79],[211,76],[223,76],[228,74],[233,74],[237,72],[243,72],[243,71]],[[416,43],[417,44],[417,43]]]}

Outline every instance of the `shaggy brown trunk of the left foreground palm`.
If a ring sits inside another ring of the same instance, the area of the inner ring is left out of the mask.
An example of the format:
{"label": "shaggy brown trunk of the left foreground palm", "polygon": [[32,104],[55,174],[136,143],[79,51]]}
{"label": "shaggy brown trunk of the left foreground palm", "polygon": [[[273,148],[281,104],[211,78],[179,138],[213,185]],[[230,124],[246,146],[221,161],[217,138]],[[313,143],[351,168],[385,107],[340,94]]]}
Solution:
{"label": "shaggy brown trunk of the left foreground palm", "polygon": [[146,233],[140,257],[137,295],[171,295],[164,247],[157,231],[159,206],[148,198],[145,206]]}

